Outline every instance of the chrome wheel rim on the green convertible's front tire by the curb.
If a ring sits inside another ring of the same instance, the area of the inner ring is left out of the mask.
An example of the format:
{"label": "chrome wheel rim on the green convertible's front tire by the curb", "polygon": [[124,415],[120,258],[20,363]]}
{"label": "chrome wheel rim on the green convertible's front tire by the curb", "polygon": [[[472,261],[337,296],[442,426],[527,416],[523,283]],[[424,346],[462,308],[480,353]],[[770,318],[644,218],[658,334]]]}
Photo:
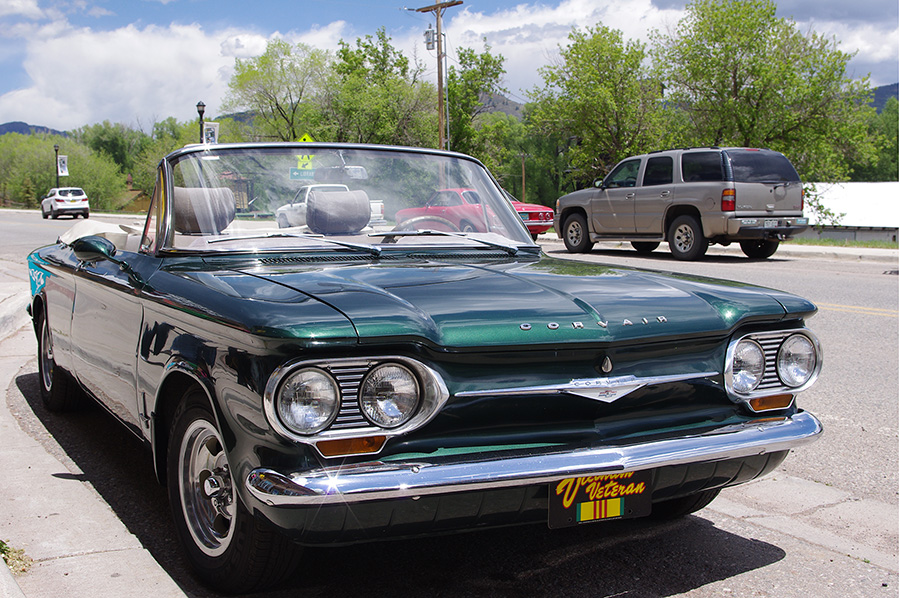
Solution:
{"label": "chrome wheel rim on the green convertible's front tire by the curb", "polygon": [[215,427],[193,422],[181,441],[178,461],[181,507],[197,547],[222,554],[234,533],[234,487],[222,441]]}

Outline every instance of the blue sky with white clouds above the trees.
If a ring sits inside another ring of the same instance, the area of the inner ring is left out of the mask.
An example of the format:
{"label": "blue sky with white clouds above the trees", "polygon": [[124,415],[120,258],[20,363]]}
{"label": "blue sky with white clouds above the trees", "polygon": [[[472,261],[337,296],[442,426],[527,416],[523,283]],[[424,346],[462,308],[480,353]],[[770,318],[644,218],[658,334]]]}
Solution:
{"label": "blue sky with white clouds above the trees", "polygon": [[[110,120],[149,130],[169,116],[219,113],[236,58],[282,37],[326,49],[384,27],[434,77],[422,33],[433,15],[403,0],[0,0],[0,123],[72,129]],[[573,27],[602,23],[649,40],[684,14],[684,0],[465,0],[444,17],[450,60],[486,38],[506,58],[505,85],[525,101]],[[898,81],[897,0],[782,0],[793,18],[855,52],[852,75]]]}

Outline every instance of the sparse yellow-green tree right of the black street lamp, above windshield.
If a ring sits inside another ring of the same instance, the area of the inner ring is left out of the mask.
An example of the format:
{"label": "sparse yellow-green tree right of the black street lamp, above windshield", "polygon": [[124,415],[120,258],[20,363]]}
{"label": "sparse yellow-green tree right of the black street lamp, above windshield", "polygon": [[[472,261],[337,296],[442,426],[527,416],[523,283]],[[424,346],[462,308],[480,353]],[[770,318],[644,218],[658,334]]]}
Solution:
{"label": "sparse yellow-green tree right of the black street lamp, above windshield", "polygon": [[320,121],[331,61],[325,50],[271,40],[262,56],[235,61],[223,108],[252,111],[262,136],[300,139]]}

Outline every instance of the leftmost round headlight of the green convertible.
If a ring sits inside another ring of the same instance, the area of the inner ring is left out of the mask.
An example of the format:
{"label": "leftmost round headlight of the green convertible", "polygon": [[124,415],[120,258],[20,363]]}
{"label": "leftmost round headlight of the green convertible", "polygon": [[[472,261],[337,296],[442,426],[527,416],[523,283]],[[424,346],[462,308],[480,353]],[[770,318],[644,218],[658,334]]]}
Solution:
{"label": "leftmost round headlight of the green convertible", "polygon": [[341,406],[337,382],[319,368],[303,368],[287,376],[278,391],[278,418],[297,434],[328,427]]}

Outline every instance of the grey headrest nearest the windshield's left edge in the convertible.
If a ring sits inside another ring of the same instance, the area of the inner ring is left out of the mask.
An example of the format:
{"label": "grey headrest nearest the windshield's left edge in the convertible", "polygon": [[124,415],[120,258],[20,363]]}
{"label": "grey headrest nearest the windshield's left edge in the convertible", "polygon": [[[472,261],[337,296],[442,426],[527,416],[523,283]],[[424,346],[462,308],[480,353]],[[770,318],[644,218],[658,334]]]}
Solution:
{"label": "grey headrest nearest the windshield's left edge in the convertible", "polygon": [[175,232],[217,235],[234,220],[234,193],[228,187],[175,187]]}

